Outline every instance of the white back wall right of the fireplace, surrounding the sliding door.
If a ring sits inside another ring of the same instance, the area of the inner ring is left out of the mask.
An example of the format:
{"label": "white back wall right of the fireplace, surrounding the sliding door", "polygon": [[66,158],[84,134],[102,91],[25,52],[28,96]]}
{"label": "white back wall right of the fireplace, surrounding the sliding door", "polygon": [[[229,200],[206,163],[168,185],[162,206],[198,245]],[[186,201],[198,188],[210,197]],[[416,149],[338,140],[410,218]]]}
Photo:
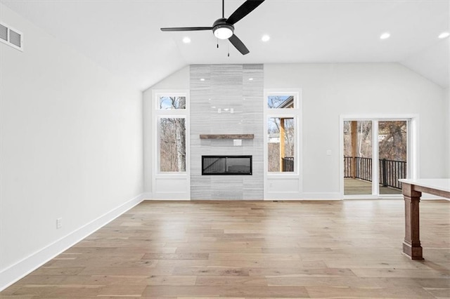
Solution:
{"label": "white back wall right of the fireplace, surrounding the sliding door", "polygon": [[[305,197],[340,191],[341,114],[418,114],[420,177],[442,178],[444,90],[397,63],[264,65],[264,88],[302,88]],[[331,150],[331,157],[326,151]]]}

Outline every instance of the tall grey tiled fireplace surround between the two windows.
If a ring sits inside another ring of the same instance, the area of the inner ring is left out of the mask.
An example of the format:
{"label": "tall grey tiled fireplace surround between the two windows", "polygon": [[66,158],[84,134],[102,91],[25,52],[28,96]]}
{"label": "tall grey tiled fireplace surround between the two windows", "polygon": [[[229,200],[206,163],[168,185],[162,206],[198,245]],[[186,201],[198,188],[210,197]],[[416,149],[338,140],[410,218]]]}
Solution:
{"label": "tall grey tiled fireplace surround between the two windows", "polygon": [[[191,199],[263,198],[263,65],[191,65]],[[253,139],[200,139],[254,134]],[[252,155],[252,175],[202,175],[202,155]]]}

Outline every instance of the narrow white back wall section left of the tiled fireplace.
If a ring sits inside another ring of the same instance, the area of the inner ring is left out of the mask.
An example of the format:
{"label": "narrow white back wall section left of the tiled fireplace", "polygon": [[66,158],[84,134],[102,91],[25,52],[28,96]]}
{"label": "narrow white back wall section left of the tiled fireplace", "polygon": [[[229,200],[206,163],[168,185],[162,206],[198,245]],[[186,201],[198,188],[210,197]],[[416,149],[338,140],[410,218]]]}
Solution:
{"label": "narrow white back wall section left of the tiled fireplace", "polygon": [[[189,89],[189,66],[179,69],[174,74],[151,86],[143,92],[143,173],[144,192],[146,199],[153,197],[152,190],[152,170],[153,170],[153,121],[152,121],[152,91],[185,91]],[[155,164],[156,165],[156,164]]]}

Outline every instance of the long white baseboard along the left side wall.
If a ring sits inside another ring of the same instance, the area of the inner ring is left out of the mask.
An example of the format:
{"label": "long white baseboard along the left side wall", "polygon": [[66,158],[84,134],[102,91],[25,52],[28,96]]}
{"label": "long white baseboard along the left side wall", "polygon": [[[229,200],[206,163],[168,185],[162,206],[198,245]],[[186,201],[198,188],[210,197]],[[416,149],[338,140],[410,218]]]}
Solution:
{"label": "long white baseboard along the left side wall", "polygon": [[11,286],[11,284],[14,284],[15,281],[18,281],[27,274],[30,274],[32,271],[36,270],[38,267],[41,267],[41,265],[44,265],[49,260],[56,257],[56,255],[63,253],[63,251],[77,244],[79,241],[89,236],[89,234],[92,234],[99,228],[108,224],[118,216],[128,211],[130,208],[133,208],[143,201],[143,199],[144,194],[139,194],[137,197],[134,197],[134,199],[127,201],[117,208],[113,208],[113,210],[108,213],[105,213],[86,225],[79,227],[79,229],[70,232],[70,234],[67,234],[65,237],[62,237],[41,250],[28,255],[18,263],[1,270],[0,291],[3,291],[8,286]]}

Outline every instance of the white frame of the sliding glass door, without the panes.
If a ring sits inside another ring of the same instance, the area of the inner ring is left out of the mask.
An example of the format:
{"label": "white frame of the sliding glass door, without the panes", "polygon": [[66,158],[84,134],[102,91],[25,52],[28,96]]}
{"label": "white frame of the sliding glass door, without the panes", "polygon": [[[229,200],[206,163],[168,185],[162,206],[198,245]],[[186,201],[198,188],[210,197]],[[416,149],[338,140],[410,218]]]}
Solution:
{"label": "white frame of the sliding glass door, without the panes", "polygon": [[[344,194],[344,121],[372,121],[372,194]],[[401,194],[380,194],[378,186],[378,121],[406,121],[406,178],[418,178],[418,114],[340,115],[340,194],[342,199],[399,199]]]}

